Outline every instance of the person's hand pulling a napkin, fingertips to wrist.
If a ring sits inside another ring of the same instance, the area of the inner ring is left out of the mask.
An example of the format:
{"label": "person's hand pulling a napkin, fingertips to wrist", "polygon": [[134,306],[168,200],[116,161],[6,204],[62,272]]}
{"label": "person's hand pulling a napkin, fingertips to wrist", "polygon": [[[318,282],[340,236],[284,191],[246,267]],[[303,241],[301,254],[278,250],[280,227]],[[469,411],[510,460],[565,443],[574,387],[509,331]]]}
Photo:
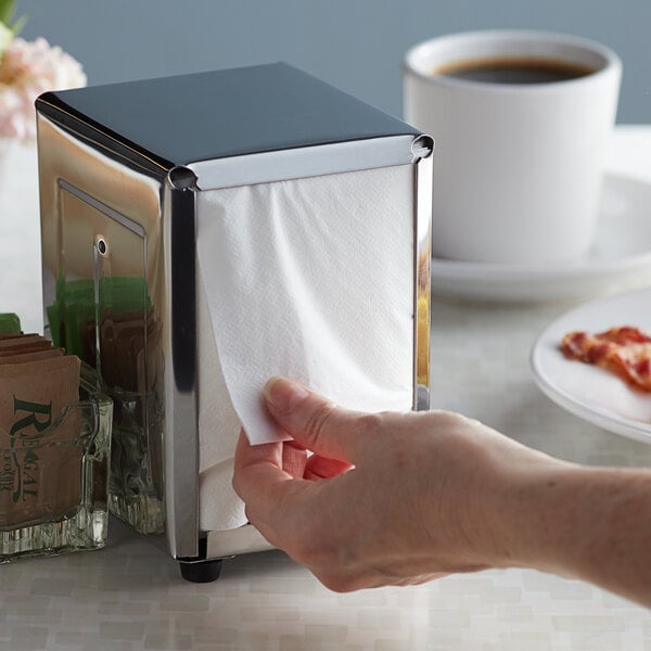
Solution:
{"label": "person's hand pulling a napkin, fingertips to wrist", "polygon": [[242,434],[234,489],[269,542],[339,591],[503,564],[499,496],[553,463],[455,413],[348,411],[282,379],[265,398],[293,442]]}

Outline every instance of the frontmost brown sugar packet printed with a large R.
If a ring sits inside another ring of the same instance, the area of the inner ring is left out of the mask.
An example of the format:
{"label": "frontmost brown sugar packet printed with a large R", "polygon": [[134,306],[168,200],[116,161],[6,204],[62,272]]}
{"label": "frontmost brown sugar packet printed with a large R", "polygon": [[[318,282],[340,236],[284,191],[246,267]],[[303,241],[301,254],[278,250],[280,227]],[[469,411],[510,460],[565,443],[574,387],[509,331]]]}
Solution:
{"label": "frontmost brown sugar packet printed with a large R", "polygon": [[79,503],[80,361],[56,356],[0,365],[0,528],[56,520]]}

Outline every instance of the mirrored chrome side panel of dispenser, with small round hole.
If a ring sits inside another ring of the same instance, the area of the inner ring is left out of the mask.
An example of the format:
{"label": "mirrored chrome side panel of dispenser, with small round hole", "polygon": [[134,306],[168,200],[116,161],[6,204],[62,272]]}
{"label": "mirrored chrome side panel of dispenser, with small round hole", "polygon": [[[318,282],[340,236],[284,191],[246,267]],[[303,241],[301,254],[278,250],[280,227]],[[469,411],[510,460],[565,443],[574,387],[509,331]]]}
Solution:
{"label": "mirrored chrome side panel of dispenser, with small round hole", "polygon": [[164,529],[165,292],[158,183],[39,116],[46,331],[114,400],[111,508]]}

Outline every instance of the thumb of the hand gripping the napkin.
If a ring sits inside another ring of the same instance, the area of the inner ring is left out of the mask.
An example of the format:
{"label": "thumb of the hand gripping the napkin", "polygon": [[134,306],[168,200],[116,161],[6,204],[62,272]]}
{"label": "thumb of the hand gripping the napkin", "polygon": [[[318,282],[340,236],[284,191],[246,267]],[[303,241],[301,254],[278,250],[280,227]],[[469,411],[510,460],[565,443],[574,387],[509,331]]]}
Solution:
{"label": "thumb of the hand gripping the napkin", "polygon": [[265,400],[271,418],[294,441],[330,459],[355,463],[362,443],[359,434],[366,414],[336,407],[307,387],[272,378],[265,386]]}

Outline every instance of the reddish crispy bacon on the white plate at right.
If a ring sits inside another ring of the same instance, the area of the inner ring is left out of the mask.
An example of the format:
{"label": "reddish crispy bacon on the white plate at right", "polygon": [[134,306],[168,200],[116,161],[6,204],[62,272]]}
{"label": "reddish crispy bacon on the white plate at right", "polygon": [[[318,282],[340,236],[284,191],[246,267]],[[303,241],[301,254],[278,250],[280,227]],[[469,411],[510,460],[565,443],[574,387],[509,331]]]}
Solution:
{"label": "reddish crispy bacon on the white plate at right", "polygon": [[597,334],[570,332],[561,349],[570,359],[602,367],[633,386],[651,392],[651,333],[640,328],[618,326]]}

